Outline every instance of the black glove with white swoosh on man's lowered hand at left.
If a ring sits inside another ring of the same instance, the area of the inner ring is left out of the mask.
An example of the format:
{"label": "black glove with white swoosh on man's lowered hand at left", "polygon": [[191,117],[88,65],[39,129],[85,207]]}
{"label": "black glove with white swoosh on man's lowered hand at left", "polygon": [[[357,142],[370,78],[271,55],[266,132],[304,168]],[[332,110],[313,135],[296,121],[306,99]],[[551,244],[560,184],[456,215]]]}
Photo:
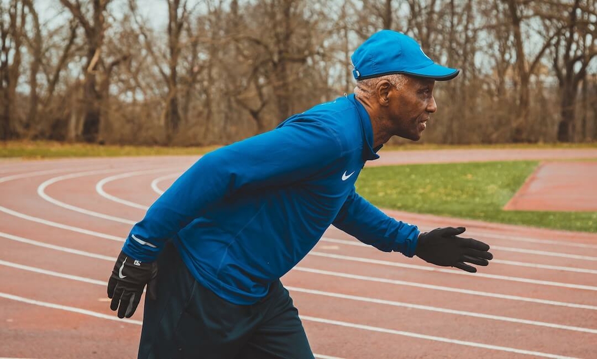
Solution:
{"label": "black glove with white swoosh on man's lowered hand at left", "polygon": [[155,281],[158,263],[143,263],[120,252],[112,276],[108,280],[108,298],[112,299],[110,309],[118,309],[119,318],[130,318],[137,309],[143,288],[147,284],[147,295],[155,299]]}

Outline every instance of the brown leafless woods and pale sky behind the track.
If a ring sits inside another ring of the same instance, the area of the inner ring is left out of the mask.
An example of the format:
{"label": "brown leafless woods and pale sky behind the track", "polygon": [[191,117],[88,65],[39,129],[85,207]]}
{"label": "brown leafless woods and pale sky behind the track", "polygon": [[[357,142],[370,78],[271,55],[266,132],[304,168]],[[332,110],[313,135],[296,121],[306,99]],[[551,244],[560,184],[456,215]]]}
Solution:
{"label": "brown leafless woods and pale sky behind the track", "polygon": [[597,138],[595,0],[0,1],[0,140],[238,141],[352,93],[381,29],[461,69],[423,141]]}

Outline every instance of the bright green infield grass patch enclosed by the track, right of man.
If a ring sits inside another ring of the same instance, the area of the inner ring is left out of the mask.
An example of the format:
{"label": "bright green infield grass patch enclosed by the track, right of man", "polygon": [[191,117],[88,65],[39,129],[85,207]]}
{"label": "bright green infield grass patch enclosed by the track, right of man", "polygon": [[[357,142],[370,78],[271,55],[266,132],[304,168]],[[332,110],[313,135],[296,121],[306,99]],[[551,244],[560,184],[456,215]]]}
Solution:
{"label": "bright green infield grass patch enclosed by the track, right of man", "polygon": [[356,185],[359,194],[381,208],[597,232],[597,212],[502,210],[537,165],[516,161],[373,167],[361,172]]}

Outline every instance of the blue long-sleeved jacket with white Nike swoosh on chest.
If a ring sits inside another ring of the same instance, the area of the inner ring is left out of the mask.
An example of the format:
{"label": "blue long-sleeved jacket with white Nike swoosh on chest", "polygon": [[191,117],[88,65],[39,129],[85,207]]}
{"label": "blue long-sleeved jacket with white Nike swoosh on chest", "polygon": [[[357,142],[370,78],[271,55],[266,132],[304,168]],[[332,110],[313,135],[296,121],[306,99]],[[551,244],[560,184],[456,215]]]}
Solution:
{"label": "blue long-sleeved jacket with white Nike swoosh on chest", "polygon": [[413,256],[418,229],[355,192],[379,158],[354,95],[296,114],[276,129],[205,154],[147,210],[123,250],[154,261],[173,240],[190,273],[234,304],[253,304],[333,224],[386,252]]}

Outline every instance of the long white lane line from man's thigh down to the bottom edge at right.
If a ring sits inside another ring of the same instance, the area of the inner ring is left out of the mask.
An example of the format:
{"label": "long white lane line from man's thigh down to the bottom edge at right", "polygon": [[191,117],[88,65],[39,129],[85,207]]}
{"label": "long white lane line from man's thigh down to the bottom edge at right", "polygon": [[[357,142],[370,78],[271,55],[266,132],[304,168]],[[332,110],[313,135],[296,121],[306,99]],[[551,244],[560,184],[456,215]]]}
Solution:
{"label": "long white lane line from man's thigh down to the bottom edge at right", "polygon": [[493,349],[493,350],[498,350],[498,351],[512,352],[512,353],[516,353],[516,354],[535,355],[537,357],[543,357],[543,358],[575,359],[574,357],[566,357],[564,355],[558,355],[558,354],[550,354],[550,353],[544,353],[544,352],[538,352],[538,351],[509,348],[508,346],[490,345],[490,344],[484,344],[484,343],[478,343],[478,342],[459,341],[457,339],[444,338],[441,336],[424,335],[424,334],[413,333],[413,332],[404,332],[403,330],[387,329],[387,328],[380,328],[380,327],[374,327],[374,326],[365,326],[363,324],[349,323],[347,321],[329,320],[329,319],[324,319],[324,318],[310,317],[309,315],[301,315],[300,318],[301,318],[301,320],[315,321],[316,323],[331,324],[334,326],[349,327],[349,328],[353,328],[353,329],[369,330],[371,332],[402,335],[402,336],[408,336],[408,337],[417,338],[417,339],[427,339],[429,341],[435,341],[435,342],[444,342],[444,343],[450,343],[450,344],[473,346],[475,348]]}

